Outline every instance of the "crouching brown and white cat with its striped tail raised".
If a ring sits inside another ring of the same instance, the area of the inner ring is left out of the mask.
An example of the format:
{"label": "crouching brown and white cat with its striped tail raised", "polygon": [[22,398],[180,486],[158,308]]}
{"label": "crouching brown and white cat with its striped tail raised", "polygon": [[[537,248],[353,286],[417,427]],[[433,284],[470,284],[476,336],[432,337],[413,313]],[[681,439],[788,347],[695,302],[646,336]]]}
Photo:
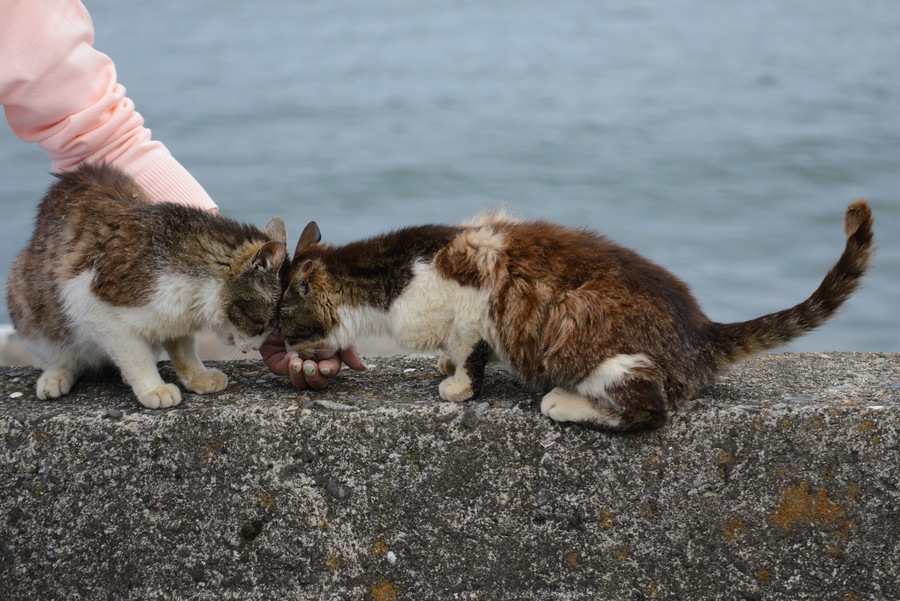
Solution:
{"label": "crouching brown and white cat with its striped tail raised", "polygon": [[674,275],[589,231],[488,214],[331,247],[313,222],[291,262],[278,331],[300,349],[389,334],[440,350],[449,377],[439,392],[452,401],[477,395],[496,357],[549,390],[541,411],[556,421],[658,428],[717,372],[835,313],[874,249],[864,201],[847,208],[844,231],[840,260],[809,299],[722,324]]}

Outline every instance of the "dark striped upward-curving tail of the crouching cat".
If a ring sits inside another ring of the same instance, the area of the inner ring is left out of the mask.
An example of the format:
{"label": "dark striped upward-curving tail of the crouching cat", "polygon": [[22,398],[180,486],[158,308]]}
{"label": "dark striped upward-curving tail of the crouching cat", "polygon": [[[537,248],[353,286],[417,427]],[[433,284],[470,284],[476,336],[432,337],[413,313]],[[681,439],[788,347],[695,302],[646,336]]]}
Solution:
{"label": "dark striped upward-curving tail of the crouching cat", "polygon": [[808,299],[750,321],[713,324],[713,357],[719,368],[785,344],[817,328],[837,312],[859,287],[859,279],[875,251],[872,210],[864,200],[847,207],[844,234],[847,244],[841,258]]}

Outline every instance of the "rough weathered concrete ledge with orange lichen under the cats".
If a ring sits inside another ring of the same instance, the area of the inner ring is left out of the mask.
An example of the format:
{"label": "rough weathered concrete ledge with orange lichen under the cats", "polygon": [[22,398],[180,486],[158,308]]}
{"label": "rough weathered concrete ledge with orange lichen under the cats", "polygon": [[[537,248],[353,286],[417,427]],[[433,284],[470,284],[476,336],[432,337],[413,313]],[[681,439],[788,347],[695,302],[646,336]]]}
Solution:
{"label": "rough weathered concrete ledge with orange lichen under the cats", "polygon": [[370,361],[316,394],[222,363],[168,411],[3,368],[0,598],[900,598],[898,354],[765,356],[640,436]]}

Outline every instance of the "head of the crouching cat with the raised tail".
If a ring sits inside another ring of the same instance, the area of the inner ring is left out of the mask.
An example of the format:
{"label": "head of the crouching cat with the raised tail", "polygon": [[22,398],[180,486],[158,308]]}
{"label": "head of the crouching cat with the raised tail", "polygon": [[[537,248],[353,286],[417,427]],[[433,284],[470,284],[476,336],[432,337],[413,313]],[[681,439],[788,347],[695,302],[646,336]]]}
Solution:
{"label": "head of the crouching cat with the raised tail", "polygon": [[326,248],[319,244],[321,239],[319,226],[311,221],[300,235],[285,275],[277,333],[292,350],[315,349],[338,323],[334,280],[319,258]]}

